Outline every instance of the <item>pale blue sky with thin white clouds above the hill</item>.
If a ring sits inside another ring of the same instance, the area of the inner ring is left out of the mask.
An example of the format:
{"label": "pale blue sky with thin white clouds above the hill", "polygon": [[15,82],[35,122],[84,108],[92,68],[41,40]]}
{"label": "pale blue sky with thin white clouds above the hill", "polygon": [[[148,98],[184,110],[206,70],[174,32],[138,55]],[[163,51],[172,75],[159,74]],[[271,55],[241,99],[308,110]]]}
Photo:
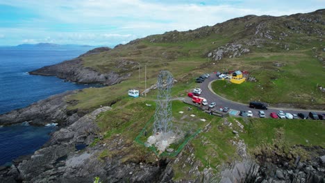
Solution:
{"label": "pale blue sky with thin white clouds above the hill", "polygon": [[244,15],[282,16],[323,8],[325,0],[0,0],[0,46],[112,46]]}

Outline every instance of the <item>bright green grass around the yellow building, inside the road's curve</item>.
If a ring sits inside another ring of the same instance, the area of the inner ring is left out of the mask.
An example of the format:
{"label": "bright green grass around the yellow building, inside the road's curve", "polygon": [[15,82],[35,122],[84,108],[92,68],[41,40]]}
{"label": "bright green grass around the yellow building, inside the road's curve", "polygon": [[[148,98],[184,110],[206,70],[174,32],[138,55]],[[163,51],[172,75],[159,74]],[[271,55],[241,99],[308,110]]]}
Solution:
{"label": "bright green grass around the yellow building, inside the road's curve", "polygon": [[[274,66],[274,62],[283,64],[283,67]],[[228,69],[251,72],[258,82],[241,85],[214,82],[213,90],[226,98],[241,103],[263,101],[325,106],[324,94],[316,89],[317,84],[325,85],[322,79],[325,77],[324,68],[308,51],[254,53],[228,60],[228,64]]]}

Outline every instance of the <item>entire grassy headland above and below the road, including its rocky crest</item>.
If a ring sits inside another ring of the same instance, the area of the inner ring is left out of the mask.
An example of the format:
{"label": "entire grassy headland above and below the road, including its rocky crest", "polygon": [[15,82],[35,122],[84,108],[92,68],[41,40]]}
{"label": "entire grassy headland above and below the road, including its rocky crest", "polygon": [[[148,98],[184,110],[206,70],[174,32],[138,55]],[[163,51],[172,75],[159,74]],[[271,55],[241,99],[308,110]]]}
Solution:
{"label": "entire grassy headland above and below the road, including its rocky crest", "polygon": [[[261,100],[273,104],[324,106],[325,94],[316,89],[317,84],[325,86],[324,16],[325,10],[284,17],[250,15],[197,30],[151,35],[110,51],[85,55],[82,57],[85,67],[101,73],[111,70],[131,73],[131,77],[117,85],[83,89],[69,97],[68,101],[74,101],[69,110],[91,111],[100,105],[110,105],[113,110],[103,112],[97,119],[103,138],[92,145],[124,139],[128,148],[117,152],[104,150],[99,157],[123,155],[124,162],[151,163],[156,162],[155,155],[134,140],[153,115],[156,90],[146,97],[127,96],[128,89],[145,89],[145,66],[147,88],[156,83],[160,70],[169,70],[174,75],[177,82],[172,89],[173,98],[185,97],[190,89],[197,87],[194,78],[202,73],[240,69],[249,71],[258,82],[242,85],[214,82],[215,91],[244,103]],[[220,50],[224,53],[219,60],[219,56],[213,55]],[[184,132],[203,129],[183,150],[186,158],[178,157],[180,161],[173,165],[174,180],[193,176],[188,173],[192,164],[187,162],[187,157],[194,156],[199,161],[200,171],[209,167],[217,170],[220,164],[239,159],[236,144],[240,142],[246,143],[247,153],[256,157],[276,152],[283,157],[300,155],[301,159],[308,159],[308,153],[295,145],[325,148],[322,121],[220,119],[196,108],[188,111],[188,105],[181,101],[173,101],[172,105],[174,128]],[[179,114],[179,111],[184,113]],[[244,128],[240,128],[239,123]],[[238,137],[233,130],[239,132]]]}

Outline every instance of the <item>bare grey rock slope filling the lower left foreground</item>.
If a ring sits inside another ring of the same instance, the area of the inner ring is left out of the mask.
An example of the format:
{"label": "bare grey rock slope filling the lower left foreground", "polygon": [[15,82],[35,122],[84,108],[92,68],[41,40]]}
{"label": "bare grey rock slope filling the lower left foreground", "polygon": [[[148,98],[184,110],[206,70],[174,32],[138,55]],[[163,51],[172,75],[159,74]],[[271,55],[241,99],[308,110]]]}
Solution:
{"label": "bare grey rock slope filling the lower left foreground", "polygon": [[[94,137],[99,137],[94,120],[106,110],[110,110],[110,107],[94,110],[67,128],[54,132],[49,142],[30,159],[23,160],[17,166],[0,169],[0,182],[93,182],[94,177],[100,177],[101,182],[160,182],[160,179],[169,182],[172,177],[163,176],[167,159],[160,160],[158,164],[139,164],[122,163],[123,155],[104,159],[99,157],[103,150],[109,152],[124,148],[123,143],[113,146],[114,139],[107,145],[76,150],[76,143],[90,145]],[[122,139],[117,138],[116,141]],[[168,175],[170,173],[170,170],[166,172]]]}

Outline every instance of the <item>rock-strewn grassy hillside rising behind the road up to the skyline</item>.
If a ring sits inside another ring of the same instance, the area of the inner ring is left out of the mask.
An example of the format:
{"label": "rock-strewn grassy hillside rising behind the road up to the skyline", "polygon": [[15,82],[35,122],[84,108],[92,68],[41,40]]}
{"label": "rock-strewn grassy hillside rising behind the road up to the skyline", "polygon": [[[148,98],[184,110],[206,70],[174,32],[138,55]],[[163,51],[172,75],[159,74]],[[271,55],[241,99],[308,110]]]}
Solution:
{"label": "rock-strewn grassy hillside rising behind the road up to the skyline", "polygon": [[[84,56],[85,67],[102,73],[131,73],[131,77],[112,87],[86,89],[81,96],[74,96],[80,101],[76,107],[86,107],[83,102],[95,107],[116,101],[129,88],[143,90],[144,65],[147,87],[156,82],[158,71],[167,69],[179,81],[177,94],[194,86],[192,80],[201,73],[240,69],[249,71],[258,82],[240,86],[219,82],[215,83],[216,92],[244,103],[261,100],[325,107],[325,94],[316,88],[317,84],[325,86],[324,12],[283,17],[249,15],[196,30],[151,35]],[[243,49],[249,51],[241,52]],[[220,60],[214,57],[219,50],[224,51]],[[247,90],[251,92],[242,92]]]}

